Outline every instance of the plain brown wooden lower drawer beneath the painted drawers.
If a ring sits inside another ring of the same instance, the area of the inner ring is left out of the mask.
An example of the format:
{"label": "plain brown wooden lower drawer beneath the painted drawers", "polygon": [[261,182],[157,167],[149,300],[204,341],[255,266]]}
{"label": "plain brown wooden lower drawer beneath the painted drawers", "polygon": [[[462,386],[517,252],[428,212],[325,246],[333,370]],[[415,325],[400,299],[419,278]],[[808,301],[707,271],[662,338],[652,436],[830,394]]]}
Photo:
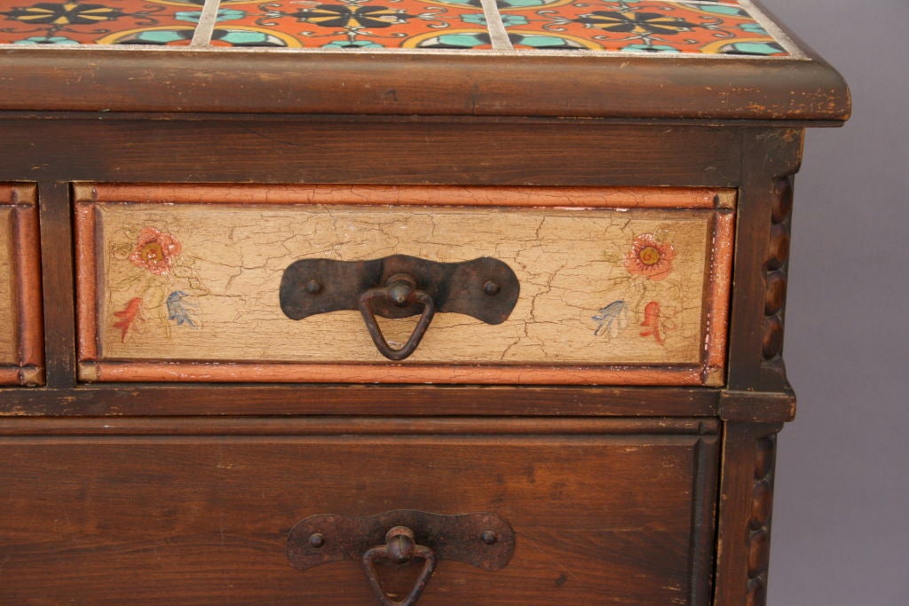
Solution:
{"label": "plain brown wooden lower drawer beneath the painted drawers", "polygon": [[[368,606],[358,561],[297,571],[286,538],[310,515],[398,509],[490,512],[514,529],[504,569],[442,559],[420,606],[707,603],[715,428],[572,423],[552,435],[6,437],[0,603]],[[414,571],[384,575],[394,592]]]}

